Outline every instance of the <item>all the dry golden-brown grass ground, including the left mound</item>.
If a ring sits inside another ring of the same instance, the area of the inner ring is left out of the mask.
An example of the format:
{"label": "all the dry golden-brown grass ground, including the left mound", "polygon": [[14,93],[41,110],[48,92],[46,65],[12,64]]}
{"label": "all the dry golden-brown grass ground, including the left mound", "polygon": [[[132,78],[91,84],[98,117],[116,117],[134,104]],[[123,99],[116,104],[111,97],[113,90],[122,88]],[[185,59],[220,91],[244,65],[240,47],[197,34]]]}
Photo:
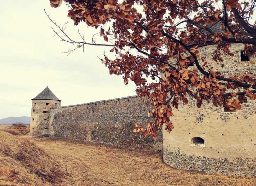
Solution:
{"label": "all the dry golden-brown grass ground, including the left mound", "polygon": [[256,185],[256,178],[173,169],[162,153],[0,129],[0,185]]}

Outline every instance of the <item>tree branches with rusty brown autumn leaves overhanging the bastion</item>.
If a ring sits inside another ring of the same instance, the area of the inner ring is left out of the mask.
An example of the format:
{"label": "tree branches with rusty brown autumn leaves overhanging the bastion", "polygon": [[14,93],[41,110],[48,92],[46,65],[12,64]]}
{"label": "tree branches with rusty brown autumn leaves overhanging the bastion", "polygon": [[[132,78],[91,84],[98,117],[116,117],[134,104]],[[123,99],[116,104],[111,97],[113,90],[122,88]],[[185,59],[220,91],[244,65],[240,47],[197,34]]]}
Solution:
{"label": "tree branches with rusty brown autumn leaves overhanging the bastion", "polygon": [[[50,0],[50,4],[56,8],[63,1],[70,8],[68,17],[74,24],[84,22],[99,30],[105,43],[96,43],[93,38],[88,43],[81,35],[81,41],[74,41],[51,20],[60,29],[56,33],[61,40],[76,44],[76,48],[109,46],[115,57],[105,54],[101,61],[110,74],[121,75],[125,84],[133,81],[137,94],[150,99],[153,109],[148,116],[155,122],[146,123],[146,127],[136,125],[134,132],[156,139],[163,124],[171,132],[172,108],[187,104],[188,96],[196,100],[197,107],[205,100],[226,110],[240,110],[247,99],[256,99],[254,74],[234,71],[225,77],[207,68],[198,49],[215,44],[212,58],[223,61],[223,55],[234,55],[229,49],[232,43],[242,43],[244,54],[255,56],[256,1]],[[216,31],[213,28],[217,24],[220,30]],[[171,63],[171,58],[175,62]],[[193,68],[189,68],[191,63],[195,64]]]}

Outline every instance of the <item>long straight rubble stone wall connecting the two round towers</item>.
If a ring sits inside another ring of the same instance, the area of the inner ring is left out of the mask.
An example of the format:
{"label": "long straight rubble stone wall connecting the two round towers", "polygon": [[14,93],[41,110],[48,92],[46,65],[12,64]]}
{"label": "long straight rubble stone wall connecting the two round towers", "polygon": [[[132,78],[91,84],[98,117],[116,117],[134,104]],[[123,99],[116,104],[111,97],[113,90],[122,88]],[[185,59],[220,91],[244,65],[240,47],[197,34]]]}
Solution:
{"label": "long straight rubble stone wall connecting the two round towers", "polygon": [[137,96],[51,108],[49,136],[158,151],[162,130],[156,142],[133,132],[136,123],[153,121],[150,109],[149,100]]}

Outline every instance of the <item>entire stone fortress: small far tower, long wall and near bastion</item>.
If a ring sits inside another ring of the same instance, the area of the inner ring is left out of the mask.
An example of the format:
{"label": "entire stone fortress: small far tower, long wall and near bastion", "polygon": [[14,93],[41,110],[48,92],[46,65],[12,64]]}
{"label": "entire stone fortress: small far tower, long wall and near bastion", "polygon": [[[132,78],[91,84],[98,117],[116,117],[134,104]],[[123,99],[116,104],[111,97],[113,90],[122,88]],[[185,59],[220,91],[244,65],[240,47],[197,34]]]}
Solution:
{"label": "entire stone fortress: small far tower, long wall and near bastion", "polygon": [[[223,62],[212,60],[215,45],[201,47],[206,68],[220,71],[225,77],[234,72],[255,74],[255,58],[241,57],[242,44],[230,47],[234,56],[223,55]],[[193,68],[191,66],[190,68]],[[131,149],[163,149],[166,164],[211,174],[256,176],[256,104],[242,105],[236,112],[224,112],[212,104],[196,107],[194,100],[173,109],[174,130],[163,130],[154,142],[132,132],[135,123],[148,118],[150,102],[137,96],[60,107],[60,100],[47,87],[32,99],[31,137],[60,137]],[[163,126],[164,127],[164,126]],[[162,146],[163,145],[163,146]]]}

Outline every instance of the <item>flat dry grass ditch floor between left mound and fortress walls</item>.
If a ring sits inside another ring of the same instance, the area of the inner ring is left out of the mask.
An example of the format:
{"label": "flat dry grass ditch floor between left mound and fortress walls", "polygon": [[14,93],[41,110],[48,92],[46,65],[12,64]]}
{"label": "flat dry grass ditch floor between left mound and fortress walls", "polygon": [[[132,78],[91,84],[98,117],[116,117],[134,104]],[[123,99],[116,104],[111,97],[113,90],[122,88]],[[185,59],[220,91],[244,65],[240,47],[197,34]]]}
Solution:
{"label": "flat dry grass ditch floor between left mound and fortress walls", "polygon": [[231,178],[173,169],[162,153],[119,149],[56,138],[30,138],[68,172],[61,185],[256,185],[255,178]]}

